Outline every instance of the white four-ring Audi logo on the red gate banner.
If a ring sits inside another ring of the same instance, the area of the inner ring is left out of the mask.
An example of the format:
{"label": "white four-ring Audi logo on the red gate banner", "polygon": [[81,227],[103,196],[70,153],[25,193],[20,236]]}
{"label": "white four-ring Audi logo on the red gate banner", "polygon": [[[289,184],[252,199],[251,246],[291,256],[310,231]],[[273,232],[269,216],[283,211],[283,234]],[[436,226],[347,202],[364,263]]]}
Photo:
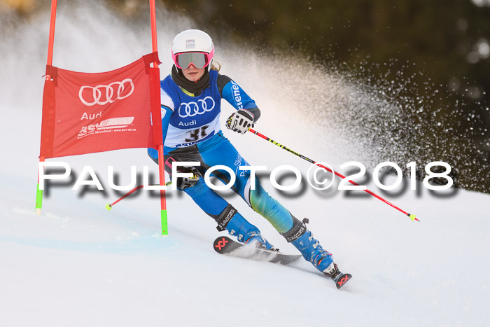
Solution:
{"label": "white four-ring Audi logo on the red gate banner", "polygon": [[[92,92],[83,92],[85,89],[92,90]],[[78,92],[78,97],[85,106],[104,105],[113,103],[118,99],[125,99],[132,95],[133,91],[133,80],[126,78],[123,81],[113,82],[109,85],[82,86]]]}

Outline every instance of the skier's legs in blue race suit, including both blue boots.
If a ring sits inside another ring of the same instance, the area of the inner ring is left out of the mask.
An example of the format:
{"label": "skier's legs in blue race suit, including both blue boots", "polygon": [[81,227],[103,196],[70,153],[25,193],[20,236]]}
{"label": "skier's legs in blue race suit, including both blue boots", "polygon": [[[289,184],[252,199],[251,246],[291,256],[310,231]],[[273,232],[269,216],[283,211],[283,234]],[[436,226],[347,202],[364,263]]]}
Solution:
{"label": "skier's legs in blue race suit, including both blue boots", "polygon": [[[158,158],[155,158],[156,151],[148,151],[148,153],[153,160],[158,162]],[[258,179],[255,179],[255,190],[251,190],[251,173],[238,169],[239,166],[246,166],[248,163],[241,158],[237,149],[223,136],[221,131],[195,146],[165,148],[165,170],[171,176],[173,161],[200,162],[200,167],[195,168],[198,168],[202,176],[207,169],[216,165],[230,167],[236,175],[232,190],[240,195],[253,210],[264,216],[286,238],[287,242],[300,250],[306,260],[320,272],[325,271],[333,263],[332,254],[323,250],[304,223],[297,220],[286,208],[267,194],[260,186]],[[215,170],[212,175],[225,184],[230,181],[230,174],[224,170]],[[202,177],[194,186],[184,188],[183,191],[190,195],[204,212],[214,218],[218,223],[218,230],[228,230],[241,242],[248,242],[251,237],[260,235],[258,228],[246,221],[231,204],[209,188]],[[272,247],[267,240],[262,240],[265,241],[267,249]]]}

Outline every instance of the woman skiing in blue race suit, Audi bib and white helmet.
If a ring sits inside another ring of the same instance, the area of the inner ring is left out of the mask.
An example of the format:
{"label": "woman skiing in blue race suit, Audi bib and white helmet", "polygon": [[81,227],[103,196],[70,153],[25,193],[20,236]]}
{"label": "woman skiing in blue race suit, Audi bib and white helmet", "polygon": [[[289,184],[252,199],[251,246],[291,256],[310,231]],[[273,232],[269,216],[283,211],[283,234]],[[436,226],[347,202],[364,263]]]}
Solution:
{"label": "woman skiing in blue race suit, Audi bib and white helmet", "polygon": [[[244,244],[274,250],[258,228],[209,188],[202,178],[207,169],[215,165],[225,165],[233,171],[237,162],[240,166],[248,165],[221,131],[221,99],[237,109],[226,121],[226,127],[233,132],[246,133],[260,118],[260,110],[253,99],[231,78],[218,74],[221,67],[213,62],[213,57],[214,45],[207,33],[188,29],[175,36],[172,74],[160,83],[162,129],[164,137],[166,135],[165,170],[172,177],[172,162],[200,162],[200,166],[180,168],[180,172],[194,175],[179,177],[177,188],[190,195],[218,223],[218,230],[228,230]],[[150,148],[148,154],[158,163],[158,151]],[[316,269],[335,279],[340,273],[332,254],[321,247],[304,223],[267,194],[258,179],[252,189],[250,174],[250,171],[237,174],[232,190],[272,223]],[[215,170],[212,176],[225,184],[230,181],[230,174],[225,170]]]}

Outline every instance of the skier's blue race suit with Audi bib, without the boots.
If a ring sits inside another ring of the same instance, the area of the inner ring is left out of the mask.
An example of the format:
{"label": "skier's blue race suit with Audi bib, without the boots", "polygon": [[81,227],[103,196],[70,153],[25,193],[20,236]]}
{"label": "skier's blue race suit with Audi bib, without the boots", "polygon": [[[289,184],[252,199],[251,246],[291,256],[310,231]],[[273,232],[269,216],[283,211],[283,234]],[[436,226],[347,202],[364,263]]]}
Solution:
{"label": "skier's blue race suit with Audi bib, without the boots", "polygon": [[[220,128],[222,97],[235,109],[255,108],[255,102],[235,81],[226,83],[220,92],[217,85],[217,71],[209,71],[209,77],[209,87],[197,96],[182,90],[170,75],[160,83],[162,128],[164,135],[166,134],[164,145],[166,171],[172,174],[173,161],[200,162],[201,166],[196,168],[200,170],[202,176],[209,167],[215,165],[230,167],[236,173],[232,190],[255,211],[267,218],[278,232],[287,232],[293,227],[293,217],[286,208],[268,195],[260,186],[258,179],[255,179],[255,190],[251,190],[250,172],[238,170],[239,166],[246,166],[248,162],[223,136]],[[148,149],[148,153],[158,162],[157,151]],[[230,181],[230,175],[224,170],[216,170],[211,176],[215,176],[223,183]],[[216,221],[221,215],[228,214],[230,211],[230,204],[209,188],[203,178],[200,178],[195,186],[184,191]],[[237,236],[240,239],[240,235]]]}

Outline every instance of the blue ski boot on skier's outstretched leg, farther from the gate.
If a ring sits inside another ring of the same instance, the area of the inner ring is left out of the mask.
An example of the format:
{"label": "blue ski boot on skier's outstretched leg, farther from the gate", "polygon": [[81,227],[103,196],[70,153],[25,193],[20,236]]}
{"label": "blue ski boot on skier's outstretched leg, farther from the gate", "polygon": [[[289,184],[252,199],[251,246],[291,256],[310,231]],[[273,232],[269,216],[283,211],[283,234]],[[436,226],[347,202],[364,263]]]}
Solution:
{"label": "blue ski boot on skier's outstretched leg, farther from the gate", "polygon": [[311,232],[307,230],[305,223],[308,223],[308,219],[304,218],[303,222],[301,222],[293,217],[293,221],[293,228],[282,234],[286,241],[300,250],[303,258],[314,265],[320,272],[329,275],[330,272],[335,273],[337,265],[333,262],[332,253],[325,251],[320,242],[314,239]]}

